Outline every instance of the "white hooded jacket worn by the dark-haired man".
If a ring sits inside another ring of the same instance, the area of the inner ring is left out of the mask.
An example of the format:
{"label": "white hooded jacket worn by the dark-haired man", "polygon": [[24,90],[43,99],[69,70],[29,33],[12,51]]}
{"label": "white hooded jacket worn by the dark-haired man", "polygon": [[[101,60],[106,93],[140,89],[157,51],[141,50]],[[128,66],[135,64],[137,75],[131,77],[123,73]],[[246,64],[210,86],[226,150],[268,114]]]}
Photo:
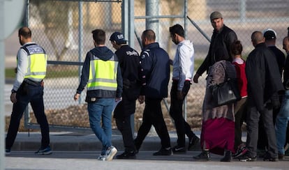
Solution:
{"label": "white hooded jacket worn by the dark-haired man", "polygon": [[193,77],[193,55],[193,42],[190,40],[179,42],[172,68],[172,79],[179,80],[179,91],[184,87],[184,82],[191,81]]}

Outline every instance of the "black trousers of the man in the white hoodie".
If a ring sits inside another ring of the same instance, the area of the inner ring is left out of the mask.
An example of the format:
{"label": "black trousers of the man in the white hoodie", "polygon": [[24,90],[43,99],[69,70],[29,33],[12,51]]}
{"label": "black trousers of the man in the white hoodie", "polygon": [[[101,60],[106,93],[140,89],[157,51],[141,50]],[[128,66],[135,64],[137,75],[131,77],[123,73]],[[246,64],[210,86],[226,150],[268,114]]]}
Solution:
{"label": "black trousers of the man in the white hoodie", "polygon": [[[172,89],[170,91],[170,116],[174,120],[175,127],[177,130],[177,145],[185,147],[186,145],[185,134],[187,135],[188,139],[193,138],[195,134],[191,130],[191,126],[188,125],[188,123],[184,120],[183,104],[185,96],[182,100],[179,100],[177,98],[178,83],[179,83],[178,81],[172,82]],[[184,93],[187,94],[188,91],[184,91]]]}

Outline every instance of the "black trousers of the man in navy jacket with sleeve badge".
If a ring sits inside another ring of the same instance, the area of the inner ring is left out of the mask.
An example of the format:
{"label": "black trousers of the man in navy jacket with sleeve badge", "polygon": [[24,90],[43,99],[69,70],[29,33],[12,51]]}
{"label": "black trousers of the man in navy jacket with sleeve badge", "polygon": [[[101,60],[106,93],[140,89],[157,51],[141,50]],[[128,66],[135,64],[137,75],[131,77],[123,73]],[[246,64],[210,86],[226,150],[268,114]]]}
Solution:
{"label": "black trousers of the man in navy jacket with sleeve badge", "polygon": [[162,98],[146,98],[144,113],[142,116],[142,125],[138,130],[138,136],[135,138],[135,146],[137,149],[142,145],[142,141],[147,137],[151,125],[154,125],[158,137],[161,138],[161,146],[163,148],[170,148],[170,136],[168,134],[168,128],[165,125],[163,119],[163,112],[161,111]]}

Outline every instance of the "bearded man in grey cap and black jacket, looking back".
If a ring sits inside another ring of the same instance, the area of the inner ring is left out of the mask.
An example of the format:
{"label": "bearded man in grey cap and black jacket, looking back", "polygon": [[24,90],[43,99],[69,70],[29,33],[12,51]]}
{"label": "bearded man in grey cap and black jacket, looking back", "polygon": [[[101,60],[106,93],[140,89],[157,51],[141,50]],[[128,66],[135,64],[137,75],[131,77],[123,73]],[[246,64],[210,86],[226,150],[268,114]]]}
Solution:
{"label": "bearded man in grey cap and black jacket, looking back", "polygon": [[235,31],[223,24],[223,15],[218,11],[214,11],[210,15],[210,20],[214,28],[214,32],[211,38],[211,44],[209,45],[209,52],[205,58],[205,61],[202,62],[202,65],[200,65],[200,68],[198,68],[195,76],[193,77],[193,82],[195,83],[198,83],[198,79],[202,73],[208,71],[209,67],[218,61],[218,59],[215,59],[216,52],[218,50],[223,50],[225,59],[232,61],[230,45],[232,45],[232,42],[237,40]]}

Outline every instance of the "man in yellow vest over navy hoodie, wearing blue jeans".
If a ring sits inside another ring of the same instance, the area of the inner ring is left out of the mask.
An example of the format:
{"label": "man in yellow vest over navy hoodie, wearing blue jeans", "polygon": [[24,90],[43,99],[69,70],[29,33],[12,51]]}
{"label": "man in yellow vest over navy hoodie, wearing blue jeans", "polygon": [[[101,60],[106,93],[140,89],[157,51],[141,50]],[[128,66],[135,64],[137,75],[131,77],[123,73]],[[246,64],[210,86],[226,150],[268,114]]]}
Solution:
{"label": "man in yellow vest over navy hoodie, wearing blue jeans", "polygon": [[78,100],[87,85],[85,101],[88,103],[89,123],[103,144],[98,160],[110,161],[117,153],[117,148],[112,146],[111,123],[114,102],[121,99],[122,77],[117,56],[105,46],[105,31],[96,29],[92,34],[95,48],[87,52],[74,100]]}

